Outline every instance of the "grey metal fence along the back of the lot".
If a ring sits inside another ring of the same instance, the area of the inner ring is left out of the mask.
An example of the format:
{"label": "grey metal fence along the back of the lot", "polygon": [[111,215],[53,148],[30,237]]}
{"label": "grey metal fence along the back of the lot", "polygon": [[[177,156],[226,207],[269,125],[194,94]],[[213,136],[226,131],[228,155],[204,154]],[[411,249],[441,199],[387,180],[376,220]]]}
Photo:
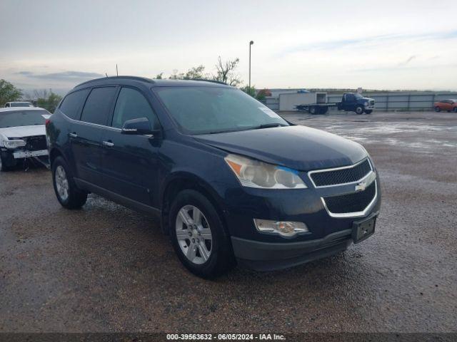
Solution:
{"label": "grey metal fence along the back of the lot", "polygon": [[[432,110],[433,103],[446,98],[457,98],[457,93],[432,92],[391,92],[365,93],[368,98],[374,98],[378,110]],[[341,101],[343,94],[327,95],[327,103]],[[279,110],[279,98],[266,98],[262,101],[271,110]],[[297,103],[299,104],[299,103]],[[333,108],[336,110],[336,108]]]}

